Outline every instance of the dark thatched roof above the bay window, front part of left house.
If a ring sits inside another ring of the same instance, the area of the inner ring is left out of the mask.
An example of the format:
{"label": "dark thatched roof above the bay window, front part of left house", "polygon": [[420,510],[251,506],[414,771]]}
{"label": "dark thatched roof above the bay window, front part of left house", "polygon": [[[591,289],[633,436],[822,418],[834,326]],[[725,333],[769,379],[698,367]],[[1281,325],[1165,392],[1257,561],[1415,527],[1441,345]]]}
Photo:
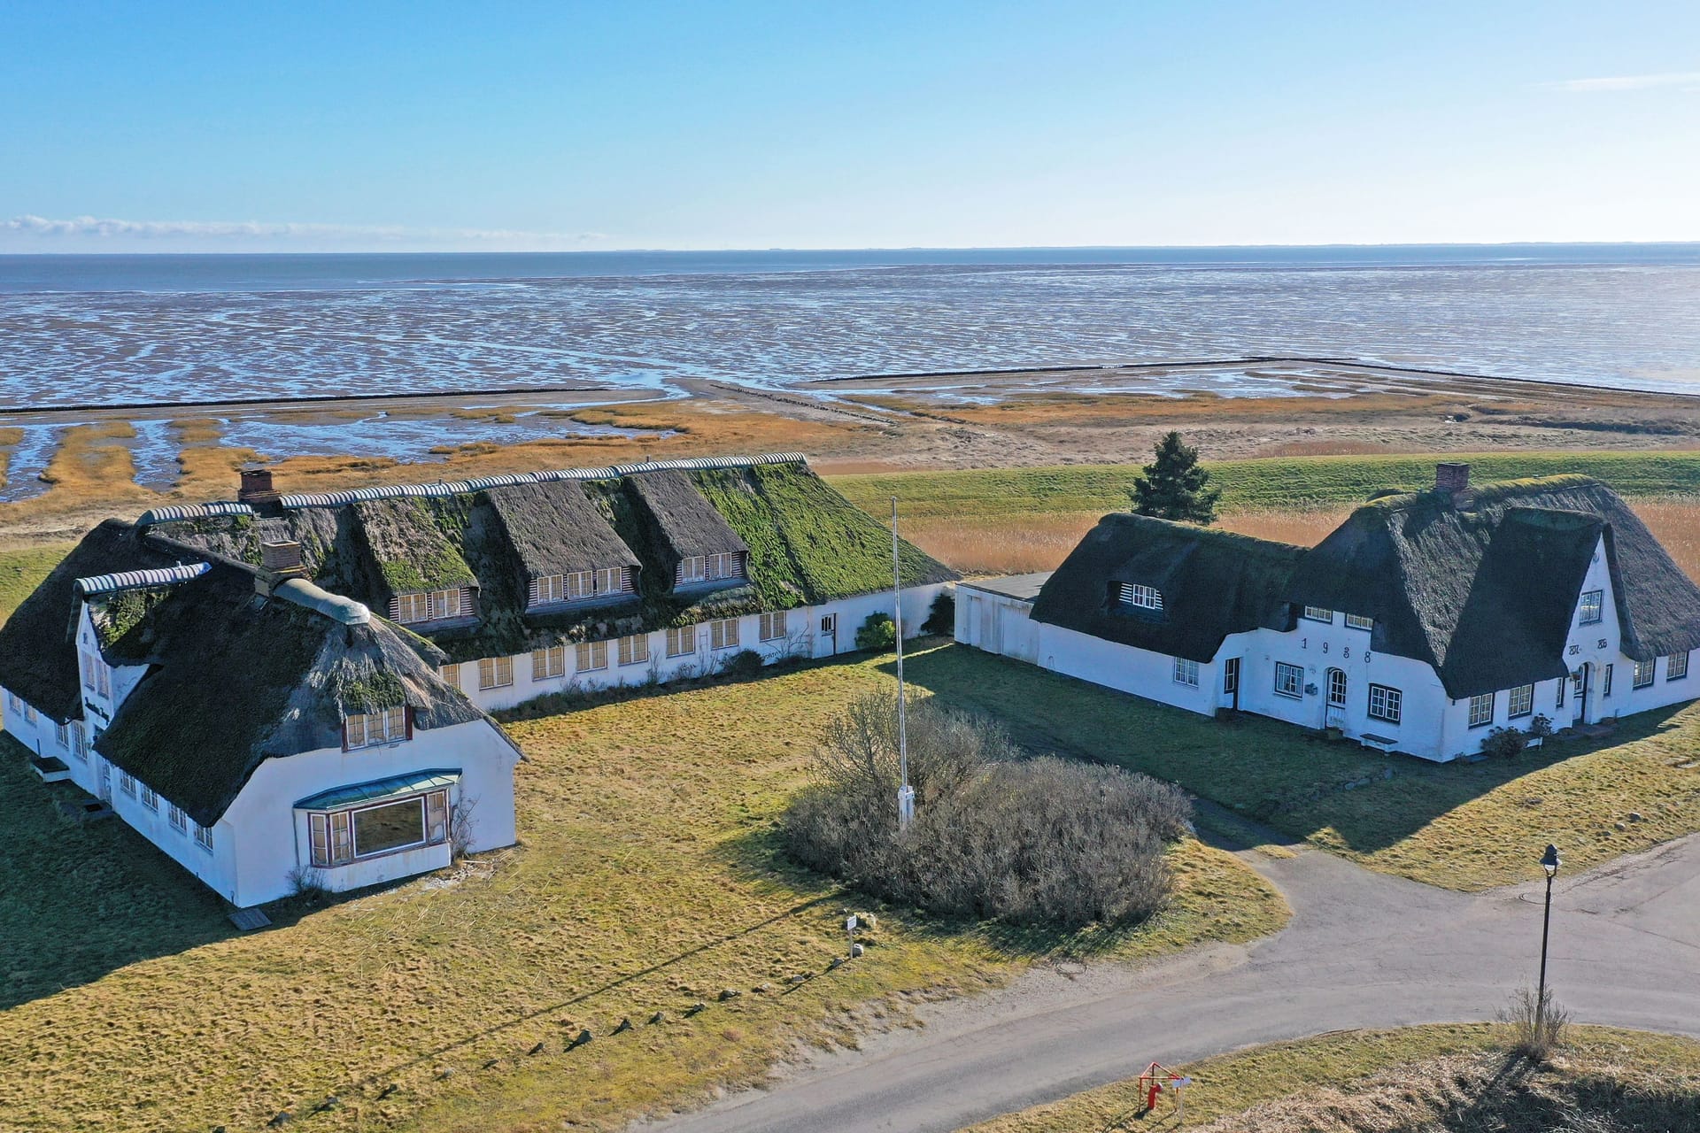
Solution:
{"label": "dark thatched roof above the bay window, front part of left house", "polygon": [[95,749],[201,826],[260,761],[337,747],[348,713],[405,703],[418,729],[483,719],[437,679],[427,642],[381,618],[342,625],[282,598],[257,605],[252,576],[226,566],[170,591],[126,640],[129,656],[110,659],[150,671]]}

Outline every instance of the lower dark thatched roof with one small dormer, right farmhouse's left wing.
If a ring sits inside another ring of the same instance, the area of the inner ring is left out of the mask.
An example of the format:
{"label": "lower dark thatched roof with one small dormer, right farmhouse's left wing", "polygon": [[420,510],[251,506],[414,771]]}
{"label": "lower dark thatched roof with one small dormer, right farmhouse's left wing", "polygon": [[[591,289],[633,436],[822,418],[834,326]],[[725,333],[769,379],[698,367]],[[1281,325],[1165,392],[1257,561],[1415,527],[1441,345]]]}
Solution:
{"label": "lower dark thatched roof with one small dormer, right farmhouse's left wing", "polygon": [[[1034,601],[1034,620],[1153,652],[1210,661],[1222,639],[1270,623],[1304,547],[1142,515],[1107,515]],[[1129,612],[1115,583],[1156,586],[1161,612]]]}

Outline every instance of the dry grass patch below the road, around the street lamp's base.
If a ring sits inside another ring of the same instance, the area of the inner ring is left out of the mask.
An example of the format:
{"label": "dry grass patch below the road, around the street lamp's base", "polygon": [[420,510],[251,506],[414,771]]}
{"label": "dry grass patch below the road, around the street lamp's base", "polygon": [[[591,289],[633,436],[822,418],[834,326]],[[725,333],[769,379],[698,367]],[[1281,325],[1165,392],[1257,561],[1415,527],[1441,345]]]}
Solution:
{"label": "dry grass patch below the road, around the street lamp's base", "polygon": [[[1581,1026],[1549,1065],[1504,1053],[1493,1024],[1346,1031],[1183,1067],[1187,1128],[1210,1133],[1416,1133],[1457,1130],[1700,1128],[1700,1043]],[[1171,1067],[1176,1068],[1176,1067]],[[1622,1106],[1620,1123],[1600,1109]],[[1120,1133],[1178,1128],[1173,1104],[1149,1116],[1137,1080],[971,1126],[964,1133]],[[1625,1125],[1622,1119],[1634,1121]]]}

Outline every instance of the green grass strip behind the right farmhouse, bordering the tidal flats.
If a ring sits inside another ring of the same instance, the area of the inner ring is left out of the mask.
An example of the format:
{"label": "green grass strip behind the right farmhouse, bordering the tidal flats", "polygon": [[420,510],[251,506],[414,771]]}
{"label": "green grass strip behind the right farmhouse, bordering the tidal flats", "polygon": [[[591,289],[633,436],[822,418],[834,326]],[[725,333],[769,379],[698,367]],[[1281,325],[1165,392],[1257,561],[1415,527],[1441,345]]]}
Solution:
{"label": "green grass strip behind the right farmhouse, bordering the tidal flats", "polygon": [[[1149,454],[1130,464],[1076,464],[1047,469],[967,472],[889,472],[828,477],[860,508],[886,516],[898,496],[911,520],[949,518],[974,523],[1056,511],[1125,511],[1127,493]],[[1476,481],[1581,472],[1625,496],[1700,493],[1700,452],[1523,452],[1447,454],[1467,460]],[[1306,508],[1362,503],[1387,488],[1430,488],[1433,457],[1272,457],[1205,464],[1222,508]]]}

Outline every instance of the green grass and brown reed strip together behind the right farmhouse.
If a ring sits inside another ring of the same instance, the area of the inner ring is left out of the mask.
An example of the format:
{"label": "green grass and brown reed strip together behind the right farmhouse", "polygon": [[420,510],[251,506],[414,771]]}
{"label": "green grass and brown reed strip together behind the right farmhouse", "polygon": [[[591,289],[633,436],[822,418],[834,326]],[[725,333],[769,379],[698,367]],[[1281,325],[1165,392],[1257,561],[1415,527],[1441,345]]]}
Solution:
{"label": "green grass and brown reed strip together behind the right farmhouse", "polygon": [[[1146,457],[1146,454],[1141,454]],[[1596,476],[1647,515],[1673,555],[1700,574],[1700,506],[1656,501],[1700,494],[1700,454],[1448,454],[1476,481],[1583,472]],[[1428,488],[1430,457],[1280,457],[1209,462],[1222,489],[1222,527],[1265,538],[1314,542],[1352,506],[1387,488]],[[904,533],[944,562],[974,572],[1047,571],[1107,511],[1127,511],[1139,464],[1051,469],[891,472],[830,477],[864,510],[886,516],[898,496]]]}

